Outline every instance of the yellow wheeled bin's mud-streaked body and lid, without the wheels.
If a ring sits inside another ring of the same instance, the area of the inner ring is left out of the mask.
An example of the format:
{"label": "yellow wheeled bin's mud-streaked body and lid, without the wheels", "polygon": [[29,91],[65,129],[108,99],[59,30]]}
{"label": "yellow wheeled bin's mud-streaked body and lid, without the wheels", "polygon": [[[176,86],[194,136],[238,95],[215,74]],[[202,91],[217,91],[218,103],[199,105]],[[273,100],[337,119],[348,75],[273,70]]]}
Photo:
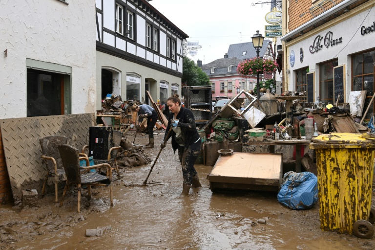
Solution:
{"label": "yellow wheeled bin's mud-streaked body and lid, without the wheels", "polygon": [[353,233],[353,224],[370,216],[375,138],[332,133],[313,139],[316,151],[320,227]]}

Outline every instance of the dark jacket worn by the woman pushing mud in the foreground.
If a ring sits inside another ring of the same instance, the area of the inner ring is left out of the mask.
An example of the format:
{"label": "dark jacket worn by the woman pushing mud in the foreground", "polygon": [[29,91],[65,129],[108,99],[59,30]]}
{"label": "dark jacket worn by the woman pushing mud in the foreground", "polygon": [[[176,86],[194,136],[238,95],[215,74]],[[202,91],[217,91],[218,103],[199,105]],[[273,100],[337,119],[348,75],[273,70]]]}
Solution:
{"label": "dark jacket worn by the woman pushing mud in the foreground", "polygon": [[[167,130],[166,130],[167,132],[164,136],[164,139],[166,139],[167,133],[170,129],[170,120],[173,119],[173,115],[174,115],[173,113],[170,113],[168,116],[168,125],[167,125]],[[182,133],[184,135],[185,147],[187,148],[190,144],[193,144],[194,142],[196,142],[198,138],[200,137],[195,127],[194,115],[190,110],[184,107],[181,107],[180,112],[176,116],[176,119],[179,120],[178,126],[182,130]],[[176,133],[174,133],[172,130],[167,140],[169,139],[170,136],[172,136],[173,151],[176,152],[179,146],[174,138],[174,136],[176,136]]]}

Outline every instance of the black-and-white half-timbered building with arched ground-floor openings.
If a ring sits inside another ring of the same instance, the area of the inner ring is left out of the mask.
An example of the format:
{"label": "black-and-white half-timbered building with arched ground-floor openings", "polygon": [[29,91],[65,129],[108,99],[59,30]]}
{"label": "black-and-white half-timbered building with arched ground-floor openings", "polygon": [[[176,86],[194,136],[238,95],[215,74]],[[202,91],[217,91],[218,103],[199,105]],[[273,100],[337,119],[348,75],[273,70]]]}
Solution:
{"label": "black-and-white half-timbered building with arched ground-floor openings", "polygon": [[165,102],[181,95],[187,35],[146,0],[96,0],[97,107],[108,93]]}

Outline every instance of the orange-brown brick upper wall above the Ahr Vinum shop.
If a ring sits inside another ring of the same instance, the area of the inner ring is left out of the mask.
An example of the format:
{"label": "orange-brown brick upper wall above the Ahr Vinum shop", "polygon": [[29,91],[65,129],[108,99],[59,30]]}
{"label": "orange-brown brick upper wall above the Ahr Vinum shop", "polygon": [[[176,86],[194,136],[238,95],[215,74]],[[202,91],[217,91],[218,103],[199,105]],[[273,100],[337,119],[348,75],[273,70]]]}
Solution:
{"label": "orange-brown brick upper wall above the Ahr Vinum shop", "polygon": [[[333,0],[335,4],[338,4],[339,2],[343,0]],[[309,11],[309,8],[311,8],[313,5],[317,5],[320,1],[314,1],[312,3],[312,0],[290,0],[289,1],[289,9],[288,9],[288,15],[289,15],[289,23],[288,23],[288,28],[289,32],[292,31],[293,29],[298,28],[304,23],[309,22],[310,20],[313,19],[313,16],[311,13],[306,13],[302,17],[299,17],[301,14],[304,12]],[[328,10],[333,7],[333,3],[331,1],[326,2],[322,7],[325,10]],[[323,13],[322,8],[316,8],[312,13],[316,16],[320,15]]]}

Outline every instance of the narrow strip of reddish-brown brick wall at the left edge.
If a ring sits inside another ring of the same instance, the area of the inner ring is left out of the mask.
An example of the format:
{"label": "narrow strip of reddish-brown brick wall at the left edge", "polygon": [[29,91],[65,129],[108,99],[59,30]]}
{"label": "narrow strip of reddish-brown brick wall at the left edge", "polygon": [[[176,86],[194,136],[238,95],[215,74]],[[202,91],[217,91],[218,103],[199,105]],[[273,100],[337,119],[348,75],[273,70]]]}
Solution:
{"label": "narrow strip of reddish-brown brick wall at the left edge", "polygon": [[0,130],[0,204],[13,202],[12,190],[10,187],[8,170],[6,169],[4,149]]}

